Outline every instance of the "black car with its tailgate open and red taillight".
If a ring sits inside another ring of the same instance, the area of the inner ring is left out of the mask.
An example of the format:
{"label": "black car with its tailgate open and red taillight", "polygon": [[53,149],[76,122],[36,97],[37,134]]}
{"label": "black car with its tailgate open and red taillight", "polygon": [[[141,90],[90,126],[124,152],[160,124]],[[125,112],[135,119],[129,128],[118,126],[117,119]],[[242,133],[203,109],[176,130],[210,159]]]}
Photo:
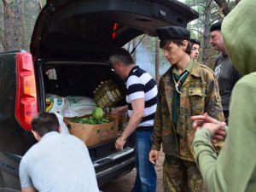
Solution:
{"label": "black car with its tailgate open and red taillight", "polygon": [[[0,54],[0,189],[19,189],[19,160],[35,143],[30,121],[45,111],[46,93],[92,97],[102,79],[113,79],[125,95],[109,53],[143,33],[155,36],[160,26],[186,27],[197,17],[169,0],[48,0],[34,26],[30,53]],[[45,75],[49,70],[55,79]],[[134,167],[132,136],[124,151],[116,151],[114,140],[89,151],[100,185]]]}

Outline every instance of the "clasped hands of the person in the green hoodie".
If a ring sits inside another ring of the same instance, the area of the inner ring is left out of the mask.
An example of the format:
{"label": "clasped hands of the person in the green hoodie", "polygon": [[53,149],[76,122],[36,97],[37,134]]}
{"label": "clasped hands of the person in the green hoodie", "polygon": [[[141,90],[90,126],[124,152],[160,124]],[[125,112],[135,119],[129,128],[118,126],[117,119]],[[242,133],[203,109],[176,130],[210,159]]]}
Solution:
{"label": "clasped hands of the person in the green hoodie", "polygon": [[213,119],[208,113],[204,113],[203,115],[192,116],[193,128],[195,130],[199,130],[203,127],[207,128],[211,134],[213,139],[224,140],[226,136],[225,132],[225,122],[218,121],[217,119]]}

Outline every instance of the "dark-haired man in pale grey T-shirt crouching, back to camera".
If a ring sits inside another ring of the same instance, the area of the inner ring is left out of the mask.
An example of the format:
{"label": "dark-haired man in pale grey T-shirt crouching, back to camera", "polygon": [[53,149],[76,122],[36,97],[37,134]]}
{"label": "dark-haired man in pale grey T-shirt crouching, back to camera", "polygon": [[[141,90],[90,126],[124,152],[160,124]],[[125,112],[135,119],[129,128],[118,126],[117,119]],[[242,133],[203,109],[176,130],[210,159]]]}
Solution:
{"label": "dark-haired man in pale grey T-shirt crouching, back to camera", "polygon": [[22,192],[99,192],[88,149],[79,138],[60,134],[55,113],[38,113],[32,133],[38,143],[20,161]]}

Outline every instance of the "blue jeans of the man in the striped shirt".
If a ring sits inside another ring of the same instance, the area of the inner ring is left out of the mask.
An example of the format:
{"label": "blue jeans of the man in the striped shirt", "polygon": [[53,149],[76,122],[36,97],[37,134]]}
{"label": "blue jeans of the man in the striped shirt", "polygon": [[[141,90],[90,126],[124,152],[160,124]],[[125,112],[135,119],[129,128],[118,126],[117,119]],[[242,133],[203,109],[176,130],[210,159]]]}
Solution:
{"label": "blue jeans of the man in the striped shirt", "polygon": [[156,173],[154,164],[148,160],[152,146],[152,131],[135,131],[137,176],[131,192],[155,192]]}

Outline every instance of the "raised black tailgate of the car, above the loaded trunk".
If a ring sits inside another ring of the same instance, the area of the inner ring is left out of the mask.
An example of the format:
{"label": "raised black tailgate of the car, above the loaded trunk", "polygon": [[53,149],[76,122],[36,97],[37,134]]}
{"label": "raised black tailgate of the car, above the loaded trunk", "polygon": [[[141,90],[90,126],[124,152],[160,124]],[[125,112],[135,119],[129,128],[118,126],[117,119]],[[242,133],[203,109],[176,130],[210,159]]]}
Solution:
{"label": "raised black tailgate of the car, above the loaded trunk", "polygon": [[104,60],[113,49],[160,26],[183,26],[197,12],[169,0],[48,0],[32,33],[35,59],[83,57]]}

